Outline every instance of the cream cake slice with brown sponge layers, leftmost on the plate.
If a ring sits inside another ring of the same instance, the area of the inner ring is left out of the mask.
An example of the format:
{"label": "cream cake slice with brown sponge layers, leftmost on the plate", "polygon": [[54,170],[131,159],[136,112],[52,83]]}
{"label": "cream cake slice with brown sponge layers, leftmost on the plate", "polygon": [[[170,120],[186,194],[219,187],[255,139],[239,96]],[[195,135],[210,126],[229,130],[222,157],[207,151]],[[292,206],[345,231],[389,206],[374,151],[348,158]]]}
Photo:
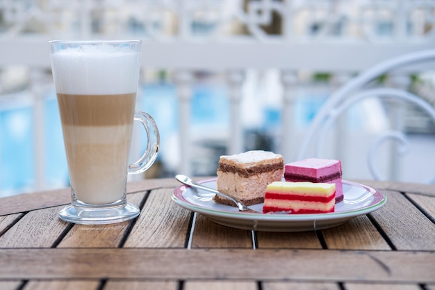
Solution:
{"label": "cream cake slice with brown sponge layers, leftmost on the plate", "polygon": [[[253,150],[234,155],[222,155],[217,168],[217,190],[238,198],[245,205],[264,201],[266,186],[281,181],[284,159],[280,154]],[[215,196],[215,202],[234,205]]]}

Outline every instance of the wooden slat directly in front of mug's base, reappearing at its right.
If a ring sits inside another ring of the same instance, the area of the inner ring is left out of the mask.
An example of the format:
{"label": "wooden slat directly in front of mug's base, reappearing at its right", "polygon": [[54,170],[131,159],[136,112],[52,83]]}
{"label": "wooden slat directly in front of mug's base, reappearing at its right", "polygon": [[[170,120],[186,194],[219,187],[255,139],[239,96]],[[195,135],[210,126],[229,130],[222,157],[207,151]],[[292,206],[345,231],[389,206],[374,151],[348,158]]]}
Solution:
{"label": "wooden slat directly in front of mug's base, reappearing at its right", "polygon": [[[129,195],[128,201],[136,206],[145,197],[144,192]],[[114,248],[120,245],[132,220],[109,225],[74,225],[58,244],[58,248]]]}

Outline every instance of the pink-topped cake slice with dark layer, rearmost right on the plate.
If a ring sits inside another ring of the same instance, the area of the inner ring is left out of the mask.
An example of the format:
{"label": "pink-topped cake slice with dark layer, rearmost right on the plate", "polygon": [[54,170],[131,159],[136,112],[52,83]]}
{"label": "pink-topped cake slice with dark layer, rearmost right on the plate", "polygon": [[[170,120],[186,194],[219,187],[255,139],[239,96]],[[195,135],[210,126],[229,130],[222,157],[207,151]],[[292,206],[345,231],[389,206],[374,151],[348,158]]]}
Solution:
{"label": "pink-topped cake slice with dark layer, rearmost right on the plate", "polygon": [[287,163],[284,170],[286,182],[326,182],[336,185],[336,202],[343,201],[341,162],[334,159],[309,158]]}

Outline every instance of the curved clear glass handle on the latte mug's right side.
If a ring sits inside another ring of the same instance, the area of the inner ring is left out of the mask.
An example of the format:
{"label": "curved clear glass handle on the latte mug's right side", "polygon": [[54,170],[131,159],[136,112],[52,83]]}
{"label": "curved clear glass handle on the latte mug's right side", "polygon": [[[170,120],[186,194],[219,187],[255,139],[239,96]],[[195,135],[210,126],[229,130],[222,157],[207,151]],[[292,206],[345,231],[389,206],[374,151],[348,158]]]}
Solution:
{"label": "curved clear glass handle on the latte mug's right side", "polygon": [[142,111],[135,111],[134,120],[141,122],[145,131],[147,131],[147,150],[138,161],[129,165],[127,171],[129,174],[142,173],[150,168],[156,161],[158,147],[160,147],[160,135],[158,134],[156,122],[151,115]]}

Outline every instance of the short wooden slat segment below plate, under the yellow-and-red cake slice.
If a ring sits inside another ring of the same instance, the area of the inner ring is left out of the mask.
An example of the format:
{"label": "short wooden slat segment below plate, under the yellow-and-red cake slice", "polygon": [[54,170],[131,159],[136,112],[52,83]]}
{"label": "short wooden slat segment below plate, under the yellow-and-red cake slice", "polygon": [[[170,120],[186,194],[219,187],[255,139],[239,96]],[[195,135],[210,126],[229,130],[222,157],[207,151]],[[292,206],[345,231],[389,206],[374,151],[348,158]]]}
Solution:
{"label": "short wooden slat segment below plate, under the yellow-and-red cake slice", "polygon": [[315,232],[256,232],[258,248],[321,249]]}

